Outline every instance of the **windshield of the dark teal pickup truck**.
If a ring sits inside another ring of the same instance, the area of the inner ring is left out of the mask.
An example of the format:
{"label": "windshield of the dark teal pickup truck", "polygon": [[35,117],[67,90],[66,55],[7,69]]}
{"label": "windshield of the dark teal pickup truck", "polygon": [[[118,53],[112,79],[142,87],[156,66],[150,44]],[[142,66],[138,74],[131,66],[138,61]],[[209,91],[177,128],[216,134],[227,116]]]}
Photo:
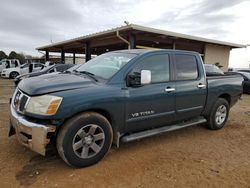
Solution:
{"label": "windshield of the dark teal pickup truck", "polygon": [[91,59],[76,69],[77,72],[89,72],[95,76],[109,79],[117,73],[136,54],[106,53]]}

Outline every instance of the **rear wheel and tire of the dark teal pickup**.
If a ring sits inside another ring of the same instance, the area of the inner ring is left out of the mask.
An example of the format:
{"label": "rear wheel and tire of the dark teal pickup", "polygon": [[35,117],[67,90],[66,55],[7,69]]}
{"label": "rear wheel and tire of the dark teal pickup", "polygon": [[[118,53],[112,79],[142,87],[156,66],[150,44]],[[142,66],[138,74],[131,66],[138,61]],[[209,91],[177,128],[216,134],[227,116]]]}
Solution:
{"label": "rear wheel and tire of the dark teal pickup", "polygon": [[214,104],[210,115],[207,118],[208,128],[218,130],[224,127],[229,114],[229,104],[227,100],[219,98]]}

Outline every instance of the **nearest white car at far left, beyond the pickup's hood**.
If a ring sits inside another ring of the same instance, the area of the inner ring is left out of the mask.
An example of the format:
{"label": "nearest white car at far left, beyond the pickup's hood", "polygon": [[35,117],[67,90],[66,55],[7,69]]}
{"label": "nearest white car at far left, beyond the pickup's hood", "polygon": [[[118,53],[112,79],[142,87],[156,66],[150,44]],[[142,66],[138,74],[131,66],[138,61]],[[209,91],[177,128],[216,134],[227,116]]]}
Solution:
{"label": "nearest white car at far left, beyond the pickup's hood", "polygon": [[42,63],[25,63],[19,67],[3,69],[1,77],[3,78],[16,78],[19,75],[27,74],[30,72],[37,72],[45,67]]}

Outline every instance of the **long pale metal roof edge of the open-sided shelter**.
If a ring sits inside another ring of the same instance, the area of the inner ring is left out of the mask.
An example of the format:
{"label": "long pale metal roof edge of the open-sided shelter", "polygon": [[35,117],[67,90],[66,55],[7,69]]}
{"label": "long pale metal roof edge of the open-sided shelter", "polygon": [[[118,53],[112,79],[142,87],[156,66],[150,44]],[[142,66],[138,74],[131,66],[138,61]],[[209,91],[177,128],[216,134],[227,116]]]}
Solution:
{"label": "long pale metal roof edge of the open-sided shelter", "polygon": [[135,31],[148,32],[148,33],[155,33],[155,34],[171,36],[171,37],[176,37],[176,38],[182,38],[182,39],[188,39],[188,40],[193,40],[193,41],[201,41],[201,42],[210,43],[210,44],[224,45],[224,46],[229,46],[229,47],[232,47],[232,48],[245,48],[246,47],[246,45],[243,45],[243,44],[236,44],[236,43],[225,42],[225,41],[220,41],[220,40],[207,39],[207,38],[203,38],[203,37],[197,37],[197,36],[193,36],[193,35],[187,35],[187,34],[176,33],[176,32],[172,32],[172,31],[155,29],[155,28],[145,27],[145,26],[136,25],[136,24],[129,24],[129,25],[126,25],[126,26],[116,27],[116,28],[112,28],[112,29],[109,29],[109,30],[106,30],[106,31],[97,32],[97,33],[93,33],[93,34],[73,38],[73,39],[70,39],[70,40],[65,40],[65,41],[62,41],[62,42],[57,42],[57,43],[53,43],[53,44],[50,44],[50,45],[38,47],[36,49],[37,50],[46,50],[48,48],[62,46],[62,45],[66,45],[66,44],[69,44],[69,43],[72,43],[72,42],[89,40],[89,39],[92,39],[92,38],[95,38],[95,37],[100,37],[102,35],[112,34],[112,33],[115,33],[117,31],[126,31],[126,30],[135,30]]}

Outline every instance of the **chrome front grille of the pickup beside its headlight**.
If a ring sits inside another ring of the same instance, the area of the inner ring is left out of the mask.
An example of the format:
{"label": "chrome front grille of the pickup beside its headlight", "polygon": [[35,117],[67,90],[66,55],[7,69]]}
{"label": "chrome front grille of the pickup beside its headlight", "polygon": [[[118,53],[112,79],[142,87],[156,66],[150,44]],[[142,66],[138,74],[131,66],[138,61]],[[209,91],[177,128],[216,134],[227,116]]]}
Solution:
{"label": "chrome front grille of the pickup beside its headlight", "polygon": [[17,90],[16,95],[14,97],[13,105],[15,109],[20,112],[24,113],[25,106],[28,102],[29,97],[25,95],[23,92],[20,90]]}

